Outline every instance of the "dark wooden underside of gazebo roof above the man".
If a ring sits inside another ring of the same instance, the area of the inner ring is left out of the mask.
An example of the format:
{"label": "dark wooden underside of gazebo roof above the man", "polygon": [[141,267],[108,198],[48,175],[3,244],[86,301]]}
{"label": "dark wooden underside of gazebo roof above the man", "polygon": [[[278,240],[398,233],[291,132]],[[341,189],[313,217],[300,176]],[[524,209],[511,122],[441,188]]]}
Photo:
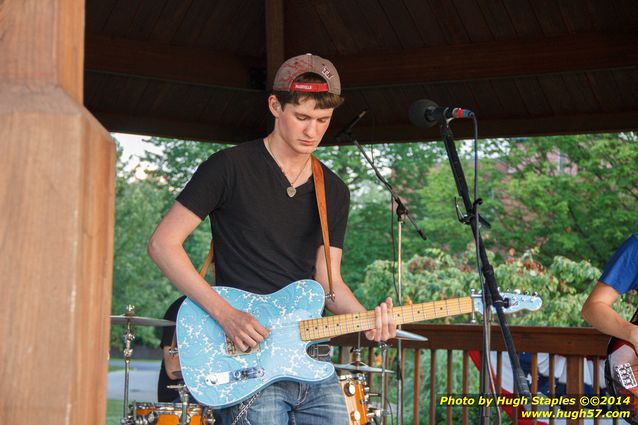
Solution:
{"label": "dark wooden underside of gazebo roof above the man", "polygon": [[341,73],[331,131],[368,110],[361,141],[438,139],[408,121],[420,98],[475,111],[481,137],[638,127],[632,0],[87,0],[85,48],[85,105],[110,131],[263,135],[268,80],[307,52]]}

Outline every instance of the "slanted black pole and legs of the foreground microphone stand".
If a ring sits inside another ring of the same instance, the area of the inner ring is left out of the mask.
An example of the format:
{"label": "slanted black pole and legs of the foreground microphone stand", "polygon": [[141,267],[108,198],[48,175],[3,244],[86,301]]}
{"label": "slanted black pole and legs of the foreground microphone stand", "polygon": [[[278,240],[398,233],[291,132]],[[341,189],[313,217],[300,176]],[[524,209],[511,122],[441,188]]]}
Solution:
{"label": "slanted black pole and legs of the foreground microphone stand", "polygon": [[[483,274],[483,277],[485,278],[485,288],[483,288],[483,293],[486,296],[484,307],[485,314],[483,318],[487,322],[488,318],[490,317],[491,306],[493,305],[498,315],[499,325],[501,328],[501,332],[503,333],[503,340],[505,341],[505,346],[507,347],[510,363],[512,364],[512,372],[514,376],[516,393],[531,398],[529,385],[527,383],[525,375],[523,374],[523,370],[521,369],[518,354],[516,353],[516,350],[514,348],[512,334],[510,333],[509,327],[507,325],[507,319],[505,318],[505,314],[503,312],[503,298],[501,298],[501,295],[498,292],[496,278],[494,277],[494,268],[490,265],[490,262],[487,258],[487,253],[485,251],[485,246],[480,234],[480,229],[477,226],[477,205],[472,205],[472,203],[470,202],[465,174],[463,173],[461,161],[459,160],[459,156],[456,151],[456,145],[454,144],[452,130],[450,129],[447,120],[443,120],[441,122],[440,131],[441,135],[443,136],[443,143],[445,144],[445,150],[450,162],[450,167],[452,168],[452,174],[454,175],[456,188],[459,196],[463,200],[463,204],[467,213],[466,219],[464,219],[463,222],[465,224],[468,224],[472,228],[474,240],[477,241],[479,245],[479,258],[481,260],[480,264],[482,264],[481,272]],[[480,202],[480,199],[475,200],[475,203],[480,204]],[[480,218],[480,216],[478,218],[479,221],[481,221],[482,223],[486,223]],[[486,330],[489,331],[489,326],[486,328]],[[490,355],[489,348],[489,336],[487,336],[484,344],[485,351],[483,352],[483,355],[481,357],[481,368],[487,366],[487,362],[485,360],[487,359],[487,356]],[[487,369],[481,370],[481,376],[489,378],[491,376],[491,371]],[[485,382],[481,382],[482,393],[486,393],[485,390],[487,390],[487,387],[484,388],[484,383]]]}

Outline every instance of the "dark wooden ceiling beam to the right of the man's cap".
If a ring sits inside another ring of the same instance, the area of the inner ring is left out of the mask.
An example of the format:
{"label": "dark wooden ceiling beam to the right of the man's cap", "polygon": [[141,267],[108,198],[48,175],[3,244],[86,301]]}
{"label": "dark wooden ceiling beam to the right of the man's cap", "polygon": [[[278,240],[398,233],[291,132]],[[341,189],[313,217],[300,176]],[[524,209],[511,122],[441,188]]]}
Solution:
{"label": "dark wooden ceiling beam to the right of the man's cap", "polygon": [[346,90],[638,65],[638,34],[575,34],[332,57]]}

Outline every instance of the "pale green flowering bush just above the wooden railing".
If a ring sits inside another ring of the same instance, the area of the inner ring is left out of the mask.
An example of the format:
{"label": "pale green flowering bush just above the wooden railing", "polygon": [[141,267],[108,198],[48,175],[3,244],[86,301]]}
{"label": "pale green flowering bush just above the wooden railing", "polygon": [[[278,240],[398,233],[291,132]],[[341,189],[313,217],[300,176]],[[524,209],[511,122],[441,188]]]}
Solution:
{"label": "pale green flowering bush just above the wooden railing", "polygon": [[[539,326],[585,326],[580,316],[589,290],[600,276],[600,269],[587,261],[573,261],[556,256],[549,267],[535,259],[535,250],[520,257],[509,257],[496,264],[494,272],[502,291],[519,289],[538,293],[543,307],[538,312],[522,312],[510,317],[510,324]],[[489,255],[494,257],[493,254]],[[394,295],[392,264],[375,261],[366,270],[362,285],[356,294],[362,299],[380,300]],[[404,299],[414,303],[467,296],[470,289],[479,290],[480,283],[472,253],[452,256],[439,249],[427,249],[422,256],[413,257],[405,264],[402,274]],[[618,310],[626,318],[633,313],[634,295],[622,297]],[[468,317],[454,316],[439,319],[444,323],[463,323]]]}

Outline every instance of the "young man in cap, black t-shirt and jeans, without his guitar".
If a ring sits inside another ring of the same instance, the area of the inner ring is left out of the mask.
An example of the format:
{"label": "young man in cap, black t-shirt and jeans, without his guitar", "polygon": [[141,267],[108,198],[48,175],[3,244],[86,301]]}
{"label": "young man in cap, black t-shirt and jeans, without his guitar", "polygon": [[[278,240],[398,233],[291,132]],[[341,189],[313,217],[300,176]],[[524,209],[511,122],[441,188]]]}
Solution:
{"label": "young man in cap, black t-shirt and jeans, without his guitar", "polygon": [[[326,300],[331,312],[366,311],[340,274],[348,188],[321,165],[330,235],[329,284],[312,178],[311,155],[342,102],[339,75],[331,62],[310,54],[284,62],[268,97],[273,131],[201,164],[149,241],[149,255],[158,267],[241,351],[257,347],[270,330],[211,290],[187,257],[182,244],[206,216],[211,217],[218,284],[269,294],[313,278],[326,293],[332,287],[334,298]],[[366,337],[381,341],[395,335],[388,298],[375,308],[375,328]],[[336,376],[315,384],[279,381],[220,414],[224,424],[348,422]]]}

